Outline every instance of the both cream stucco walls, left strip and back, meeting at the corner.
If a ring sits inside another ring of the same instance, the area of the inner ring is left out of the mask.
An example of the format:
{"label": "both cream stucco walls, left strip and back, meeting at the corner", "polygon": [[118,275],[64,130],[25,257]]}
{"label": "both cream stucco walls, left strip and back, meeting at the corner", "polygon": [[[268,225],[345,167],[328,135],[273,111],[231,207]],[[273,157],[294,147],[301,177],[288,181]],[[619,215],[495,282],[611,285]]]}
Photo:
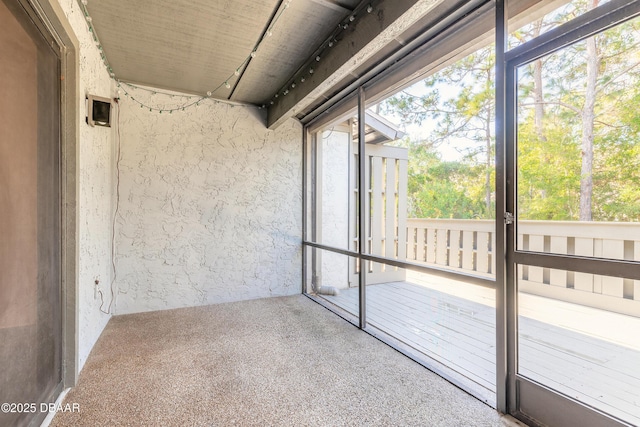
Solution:
{"label": "both cream stucco walls, left strip and back, meeting at the corner", "polygon": [[269,131],[264,112],[213,101],[160,115],[123,97],[112,303],[117,128],[86,125],[84,96],[116,87],[76,0],[59,3],[80,41],[78,369],[111,314],[299,293],[301,126]]}

